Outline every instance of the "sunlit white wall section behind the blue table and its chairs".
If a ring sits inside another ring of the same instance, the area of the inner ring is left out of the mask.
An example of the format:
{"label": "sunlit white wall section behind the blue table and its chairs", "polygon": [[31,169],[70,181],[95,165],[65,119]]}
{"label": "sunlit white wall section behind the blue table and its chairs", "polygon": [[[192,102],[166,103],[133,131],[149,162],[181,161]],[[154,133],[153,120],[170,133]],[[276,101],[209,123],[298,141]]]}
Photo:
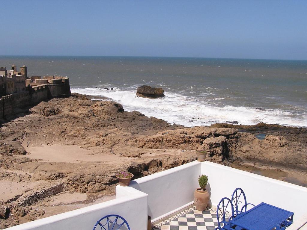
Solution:
{"label": "sunlit white wall section behind the blue table and its chairs", "polygon": [[223,197],[243,189],[247,203],[265,202],[294,213],[294,222],[307,213],[307,188],[267,178],[212,162],[203,162],[201,173],[208,175],[210,202],[217,206]]}

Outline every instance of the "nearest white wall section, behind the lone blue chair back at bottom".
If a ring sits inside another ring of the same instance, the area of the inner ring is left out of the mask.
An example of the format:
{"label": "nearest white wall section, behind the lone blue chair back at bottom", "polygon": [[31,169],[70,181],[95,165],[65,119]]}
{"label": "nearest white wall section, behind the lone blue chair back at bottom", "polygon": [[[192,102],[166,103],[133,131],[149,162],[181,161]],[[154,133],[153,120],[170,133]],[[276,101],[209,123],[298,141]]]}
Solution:
{"label": "nearest white wall section, behind the lone blue chair back at bottom", "polygon": [[[130,190],[134,190],[133,193]],[[147,194],[128,187],[120,198],[7,229],[91,230],[97,220],[109,214],[117,214],[125,218],[131,230],[147,229]]]}

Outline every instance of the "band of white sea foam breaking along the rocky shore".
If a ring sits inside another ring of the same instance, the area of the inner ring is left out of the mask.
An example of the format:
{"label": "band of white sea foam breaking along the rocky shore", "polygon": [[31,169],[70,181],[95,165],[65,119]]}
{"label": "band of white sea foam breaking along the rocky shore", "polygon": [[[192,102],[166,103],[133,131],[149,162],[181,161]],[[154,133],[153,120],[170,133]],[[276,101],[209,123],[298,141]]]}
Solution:
{"label": "band of white sea foam breaking along the rocky shore", "polygon": [[[306,117],[282,111],[279,109],[257,109],[235,106],[212,106],[210,101],[201,101],[198,98],[165,92],[164,98],[142,98],[136,96],[135,90],[113,90],[103,88],[72,88],[72,92],[92,96],[103,96],[123,105],[125,111],[139,111],[145,116],[157,117],[170,124],[176,123],[188,127],[211,125],[237,121],[237,124],[255,125],[259,122],[289,126],[307,124]],[[219,100],[218,98],[217,100]]]}

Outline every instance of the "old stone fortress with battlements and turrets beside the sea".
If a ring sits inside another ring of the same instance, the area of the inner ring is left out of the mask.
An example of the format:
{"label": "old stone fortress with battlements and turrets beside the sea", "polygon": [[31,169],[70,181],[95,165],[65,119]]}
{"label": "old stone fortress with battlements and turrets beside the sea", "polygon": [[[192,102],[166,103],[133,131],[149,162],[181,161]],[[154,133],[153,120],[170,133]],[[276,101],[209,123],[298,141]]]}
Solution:
{"label": "old stone fortress with battlements and turrets beside the sea", "polygon": [[37,105],[50,98],[70,96],[69,78],[60,76],[34,76],[28,78],[27,67],[7,71],[0,67],[0,120],[8,119],[23,108]]}

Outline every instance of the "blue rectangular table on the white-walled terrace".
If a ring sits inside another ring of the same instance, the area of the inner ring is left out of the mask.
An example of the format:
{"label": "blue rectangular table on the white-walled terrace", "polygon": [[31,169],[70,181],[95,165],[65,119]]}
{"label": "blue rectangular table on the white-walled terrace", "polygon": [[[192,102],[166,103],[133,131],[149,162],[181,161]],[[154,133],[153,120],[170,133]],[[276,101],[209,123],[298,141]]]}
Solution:
{"label": "blue rectangular table on the white-walled terrace", "polygon": [[293,215],[292,212],[262,202],[229,222],[233,229],[236,226],[246,230],[285,229],[292,224]]}

